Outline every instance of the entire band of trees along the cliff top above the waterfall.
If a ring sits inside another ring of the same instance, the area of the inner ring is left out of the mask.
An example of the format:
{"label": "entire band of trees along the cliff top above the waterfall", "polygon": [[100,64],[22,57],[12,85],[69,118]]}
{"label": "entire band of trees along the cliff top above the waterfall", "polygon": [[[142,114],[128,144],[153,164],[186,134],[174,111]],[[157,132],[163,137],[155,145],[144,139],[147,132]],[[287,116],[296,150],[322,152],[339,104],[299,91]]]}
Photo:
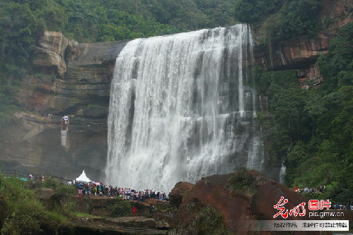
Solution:
{"label": "entire band of trees along the cliff top above the waterfall", "polygon": [[108,42],[260,24],[271,16],[267,36],[285,39],[316,32],[319,8],[320,0],[2,0],[0,82],[23,77],[18,68],[44,30],[77,42]]}

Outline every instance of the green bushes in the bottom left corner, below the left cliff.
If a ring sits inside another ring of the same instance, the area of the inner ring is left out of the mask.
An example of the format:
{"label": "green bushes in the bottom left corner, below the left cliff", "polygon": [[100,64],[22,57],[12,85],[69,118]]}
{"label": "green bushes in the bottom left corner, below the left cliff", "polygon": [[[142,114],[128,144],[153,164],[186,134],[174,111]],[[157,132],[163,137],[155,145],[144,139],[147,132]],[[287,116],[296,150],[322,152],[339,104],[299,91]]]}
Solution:
{"label": "green bushes in the bottom left corner, below the left cliff", "polygon": [[[67,218],[62,214],[66,210],[46,207],[31,187],[31,181],[5,178],[0,174],[0,234],[57,234],[63,228],[69,229]],[[59,186],[66,188],[65,196],[71,190],[67,187]]]}

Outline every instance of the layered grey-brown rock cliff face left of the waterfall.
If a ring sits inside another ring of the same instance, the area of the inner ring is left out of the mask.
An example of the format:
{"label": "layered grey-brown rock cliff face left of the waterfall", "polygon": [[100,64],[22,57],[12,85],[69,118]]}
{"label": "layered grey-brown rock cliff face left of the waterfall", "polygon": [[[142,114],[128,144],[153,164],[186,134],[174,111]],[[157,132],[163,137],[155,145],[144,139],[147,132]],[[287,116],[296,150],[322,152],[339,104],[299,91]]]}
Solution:
{"label": "layered grey-brown rock cliff face left of the waterfall", "polygon": [[[45,32],[32,57],[32,75],[17,94],[25,112],[0,145],[4,169],[76,179],[83,169],[103,178],[107,155],[110,80],[126,42],[83,43]],[[51,116],[51,124],[48,119]],[[62,116],[70,126],[62,141]]]}

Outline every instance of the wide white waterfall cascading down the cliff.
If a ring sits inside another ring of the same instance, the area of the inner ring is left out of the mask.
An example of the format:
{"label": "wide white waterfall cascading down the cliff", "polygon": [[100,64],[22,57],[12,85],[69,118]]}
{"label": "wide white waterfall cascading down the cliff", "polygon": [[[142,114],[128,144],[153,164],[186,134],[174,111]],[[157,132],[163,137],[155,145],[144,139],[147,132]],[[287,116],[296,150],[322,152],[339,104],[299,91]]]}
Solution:
{"label": "wide white waterfall cascading down the cliff", "polygon": [[241,167],[262,170],[248,25],[129,42],[108,116],[106,183],[170,191]]}

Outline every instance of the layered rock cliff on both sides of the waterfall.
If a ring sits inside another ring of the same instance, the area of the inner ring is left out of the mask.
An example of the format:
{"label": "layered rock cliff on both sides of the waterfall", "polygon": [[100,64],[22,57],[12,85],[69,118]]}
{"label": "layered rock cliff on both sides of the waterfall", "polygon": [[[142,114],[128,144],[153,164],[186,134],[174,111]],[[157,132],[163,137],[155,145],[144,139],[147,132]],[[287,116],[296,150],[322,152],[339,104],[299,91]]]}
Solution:
{"label": "layered rock cliff on both sides of the waterfall", "polygon": [[[256,63],[267,70],[297,68],[302,83],[308,78],[320,83],[313,64],[318,54],[327,52],[337,28],[352,22],[352,5],[350,0],[324,0],[318,17],[323,22],[330,20],[327,30],[313,38],[255,47]],[[59,32],[45,32],[33,52],[32,75],[23,80],[17,94],[25,112],[16,114],[19,121],[8,126],[6,140],[0,143],[0,163],[5,169],[69,179],[85,169],[91,179],[103,179],[110,81],[115,58],[125,44],[79,44]],[[52,114],[52,124],[47,114]],[[64,115],[69,115],[71,125],[62,144]]]}

